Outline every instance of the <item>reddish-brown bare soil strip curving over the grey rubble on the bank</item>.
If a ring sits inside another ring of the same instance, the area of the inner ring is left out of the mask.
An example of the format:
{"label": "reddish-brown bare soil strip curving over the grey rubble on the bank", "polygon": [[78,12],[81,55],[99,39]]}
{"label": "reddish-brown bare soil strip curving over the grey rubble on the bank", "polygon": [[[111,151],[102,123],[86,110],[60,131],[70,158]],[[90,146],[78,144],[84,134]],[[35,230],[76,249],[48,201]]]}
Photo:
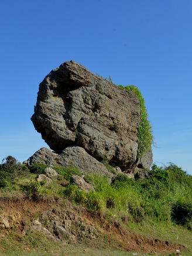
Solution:
{"label": "reddish-brown bare soil strip curving over the grey rubble on the bank", "polygon": [[[156,238],[143,237],[140,234],[132,233],[126,230],[122,223],[109,221],[105,216],[93,214],[80,207],[71,206],[70,203],[61,204],[59,202],[47,200],[32,200],[32,199],[4,199],[0,201],[0,217],[9,218],[9,227],[5,227],[1,223],[0,243],[2,238],[7,234],[15,232],[20,236],[23,233],[22,221],[34,221],[38,219],[41,213],[52,209],[63,209],[64,207],[73,211],[74,214],[81,216],[84,220],[84,225],[91,225],[98,230],[98,238],[90,241],[85,241],[92,248],[100,248],[101,246],[121,248],[125,251],[146,252],[155,255],[156,253],[173,253],[176,250],[184,250],[183,245],[170,243],[169,241],[160,241]],[[11,217],[12,216],[12,217]],[[12,221],[10,221],[12,219]],[[22,220],[22,221],[21,221]],[[14,227],[14,228],[13,228]],[[16,228],[15,228],[16,227]],[[77,243],[84,243],[80,241]],[[103,245],[102,245],[103,244]]]}

